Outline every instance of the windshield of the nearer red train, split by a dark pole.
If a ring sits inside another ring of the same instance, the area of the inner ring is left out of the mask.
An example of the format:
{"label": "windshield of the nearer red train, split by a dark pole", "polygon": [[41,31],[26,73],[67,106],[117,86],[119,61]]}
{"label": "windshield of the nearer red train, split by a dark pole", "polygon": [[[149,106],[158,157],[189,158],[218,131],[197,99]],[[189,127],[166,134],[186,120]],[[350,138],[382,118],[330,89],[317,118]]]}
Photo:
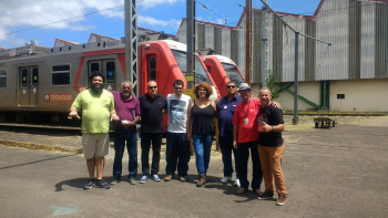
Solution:
{"label": "windshield of the nearer red train, split by a dark pole", "polygon": [[[180,65],[182,73],[185,75],[187,73],[186,52],[177,51],[177,50],[171,50],[171,52],[173,53],[173,55],[177,62],[177,65]],[[195,83],[201,83],[201,82],[206,82],[211,85],[214,85],[212,83],[211,79],[208,77],[206,70],[202,65],[200,58],[197,55],[195,55]]]}

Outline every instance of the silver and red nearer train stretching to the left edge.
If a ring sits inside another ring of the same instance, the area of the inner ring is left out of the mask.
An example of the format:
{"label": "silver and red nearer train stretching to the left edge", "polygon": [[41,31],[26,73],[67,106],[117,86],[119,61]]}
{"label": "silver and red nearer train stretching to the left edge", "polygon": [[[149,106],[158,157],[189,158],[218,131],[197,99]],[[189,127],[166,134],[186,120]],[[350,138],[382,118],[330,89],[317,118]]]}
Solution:
{"label": "silver and red nearer train stretching to the left edge", "polygon": [[[0,122],[63,123],[71,103],[89,86],[89,75],[104,75],[105,89],[120,90],[126,79],[125,44],[93,42],[49,48],[34,53],[6,50],[0,53]],[[32,51],[32,52],[31,52]],[[144,42],[137,46],[140,95],[155,80],[164,96],[173,93],[173,81],[185,81],[186,45],[171,40]],[[4,55],[4,53],[7,54]],[[202,60],[196,56],[196,83],[205,81],[219,97]],[[185,82],[186,83],[186,82]]]}

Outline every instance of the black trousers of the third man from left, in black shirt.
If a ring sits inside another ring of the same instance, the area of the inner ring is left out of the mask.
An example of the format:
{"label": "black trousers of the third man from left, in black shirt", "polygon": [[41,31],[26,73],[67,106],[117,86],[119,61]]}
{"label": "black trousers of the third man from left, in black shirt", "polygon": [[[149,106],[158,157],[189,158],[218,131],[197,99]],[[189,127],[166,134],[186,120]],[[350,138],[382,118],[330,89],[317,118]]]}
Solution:
{"label": "black trousers of the third man from left, in black shirt", "polygon": [[159,173],[159,162],[161,159],[162,133],[141,133],[143,176],[150,176],[149,155],[150,155],[151,143],[152,143],[151,176],[153,176],[153,175],[157,175]]}

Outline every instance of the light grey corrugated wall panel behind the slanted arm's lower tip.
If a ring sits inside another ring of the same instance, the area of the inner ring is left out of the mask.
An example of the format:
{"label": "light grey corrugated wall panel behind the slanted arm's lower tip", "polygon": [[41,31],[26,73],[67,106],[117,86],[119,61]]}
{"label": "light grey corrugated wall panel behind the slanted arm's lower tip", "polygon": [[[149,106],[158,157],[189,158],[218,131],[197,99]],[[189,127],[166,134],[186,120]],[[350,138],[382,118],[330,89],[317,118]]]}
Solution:
{"label": "light grey corrugated wall panel behind the slanted arm's lower tip", "polygon": [[349,0],[325,1],[316,17],[317,38],[333,45],[316,42],[315,80],[349,79]]}

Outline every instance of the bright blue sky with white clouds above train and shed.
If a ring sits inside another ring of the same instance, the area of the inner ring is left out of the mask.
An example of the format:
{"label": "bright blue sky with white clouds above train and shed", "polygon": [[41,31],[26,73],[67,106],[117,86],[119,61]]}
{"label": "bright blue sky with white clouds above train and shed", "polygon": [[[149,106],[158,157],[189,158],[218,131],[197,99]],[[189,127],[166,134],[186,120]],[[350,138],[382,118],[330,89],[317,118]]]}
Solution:
{"label": "bright blue sky with white clouds above train and shed", "polygon": [[[175,34],[186,17],[186,0],[136,0],[137,25]],[[235,27],[246,0],[197,0],[201,21]],[[279,12],[312,15],[320,0],[267,0]],[[252,0],[261,9],[259,0]],[[53,46],[55,39],[85,43],[90,33],[124,37],[124,0],[1,0],[0,48],[34,40]]]}

